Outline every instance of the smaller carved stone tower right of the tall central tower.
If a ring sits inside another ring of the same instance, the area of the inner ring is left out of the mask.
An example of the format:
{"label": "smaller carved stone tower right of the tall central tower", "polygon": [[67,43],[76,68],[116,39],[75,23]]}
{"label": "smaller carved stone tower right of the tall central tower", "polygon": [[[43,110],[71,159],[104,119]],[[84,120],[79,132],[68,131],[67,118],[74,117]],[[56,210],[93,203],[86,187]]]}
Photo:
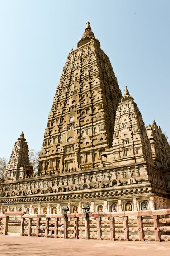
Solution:
{"label": "smaller carved stone tower right of the tall central tower", "polygon": [[146,162],[154,165],[142,115],[125,86],[118,105],[113,135],[113,163],[127,165]]}

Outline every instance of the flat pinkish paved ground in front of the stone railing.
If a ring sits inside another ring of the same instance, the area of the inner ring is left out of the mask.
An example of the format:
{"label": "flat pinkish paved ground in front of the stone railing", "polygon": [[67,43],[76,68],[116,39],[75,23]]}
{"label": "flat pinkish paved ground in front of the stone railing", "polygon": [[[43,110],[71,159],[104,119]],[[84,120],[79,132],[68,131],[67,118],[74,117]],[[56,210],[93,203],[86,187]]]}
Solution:
{"label": "flat pinkish paved ground in front of the stone railing", "polygon": [[170,242],[0,236],[0,256],[169,256]]}

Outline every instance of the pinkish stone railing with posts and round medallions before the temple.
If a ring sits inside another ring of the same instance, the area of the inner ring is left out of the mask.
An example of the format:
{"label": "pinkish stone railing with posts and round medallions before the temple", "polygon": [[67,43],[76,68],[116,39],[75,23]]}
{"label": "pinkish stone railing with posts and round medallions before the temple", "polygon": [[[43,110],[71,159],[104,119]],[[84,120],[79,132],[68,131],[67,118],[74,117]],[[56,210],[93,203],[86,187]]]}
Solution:
{"label": "pinkish stone railing with posts and round medallions before the temple", "polygon": [[170,241],[170,209],[82,214],[0,215],[0,234],[8,233],[9,219],[20,219],[20,235],[72,239]]}

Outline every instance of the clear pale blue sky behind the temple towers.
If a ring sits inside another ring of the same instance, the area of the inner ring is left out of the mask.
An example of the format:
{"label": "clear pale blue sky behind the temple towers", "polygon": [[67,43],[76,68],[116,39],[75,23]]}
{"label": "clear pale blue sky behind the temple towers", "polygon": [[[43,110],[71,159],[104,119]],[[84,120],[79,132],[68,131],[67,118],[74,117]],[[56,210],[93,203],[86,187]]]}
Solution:
{"label": "clear pale blue sky behind the temple towers", "polygon": [[56,85],[87,19],[145,125],[170,137],[169,0],[0,0],[0,156],[40,150]]}

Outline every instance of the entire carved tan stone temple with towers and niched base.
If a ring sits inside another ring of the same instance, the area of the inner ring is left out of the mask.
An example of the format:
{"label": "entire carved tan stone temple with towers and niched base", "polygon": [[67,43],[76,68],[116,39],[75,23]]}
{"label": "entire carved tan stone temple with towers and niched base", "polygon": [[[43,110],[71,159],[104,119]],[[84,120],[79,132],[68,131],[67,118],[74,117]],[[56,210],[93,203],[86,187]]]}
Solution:
{"label": "entire carved tan stone temple with towers and niched base", "polygon": [[170,146],[155,121],[145,127],[87,22],[63,68],[49,113],[39,171],[22,133],[2,185],[5,211],[71,213],[170,208]]}

